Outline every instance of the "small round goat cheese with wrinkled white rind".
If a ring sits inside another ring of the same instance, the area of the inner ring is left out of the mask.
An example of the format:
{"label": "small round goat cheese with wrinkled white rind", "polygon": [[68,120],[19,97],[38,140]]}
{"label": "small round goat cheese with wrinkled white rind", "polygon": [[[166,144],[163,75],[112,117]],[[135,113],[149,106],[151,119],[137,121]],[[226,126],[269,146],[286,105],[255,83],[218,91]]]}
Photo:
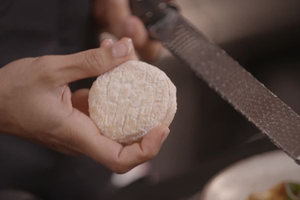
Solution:
{"label": "small round goat cheese with wrinkled white rind", "polygon": [[88,106],[101,134],[128,145],[157,125],[169,126],[177,109],[176,87],[157,67],[130,60],[94,81]]}

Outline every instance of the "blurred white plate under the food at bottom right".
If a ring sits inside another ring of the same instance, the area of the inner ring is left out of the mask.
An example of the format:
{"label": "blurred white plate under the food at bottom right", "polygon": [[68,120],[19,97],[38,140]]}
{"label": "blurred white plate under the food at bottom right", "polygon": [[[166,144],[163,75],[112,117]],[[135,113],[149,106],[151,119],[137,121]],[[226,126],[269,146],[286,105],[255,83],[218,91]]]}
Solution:
{"label": "blurred white plate under the food at bottom right", "polygon": [[258,154],[227,167],[205,186],[201,200],[246,200],[274,184],[300,182],[300,166],[279,150]]}

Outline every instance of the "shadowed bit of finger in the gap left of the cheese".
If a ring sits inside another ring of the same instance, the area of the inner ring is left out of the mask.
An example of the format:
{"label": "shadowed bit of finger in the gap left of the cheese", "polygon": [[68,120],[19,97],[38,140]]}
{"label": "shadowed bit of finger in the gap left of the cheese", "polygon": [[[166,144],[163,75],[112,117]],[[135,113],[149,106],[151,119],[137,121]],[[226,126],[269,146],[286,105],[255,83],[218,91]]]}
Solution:
{"label": "shadowed bit of finger in the gap left of the cheese", "polygon": [[78,89],[75,91],[71,96],[72,105],[74,108],[78,109],[79,111],[83,112],[87,116],[88,113],[88,92],[89,89]]}

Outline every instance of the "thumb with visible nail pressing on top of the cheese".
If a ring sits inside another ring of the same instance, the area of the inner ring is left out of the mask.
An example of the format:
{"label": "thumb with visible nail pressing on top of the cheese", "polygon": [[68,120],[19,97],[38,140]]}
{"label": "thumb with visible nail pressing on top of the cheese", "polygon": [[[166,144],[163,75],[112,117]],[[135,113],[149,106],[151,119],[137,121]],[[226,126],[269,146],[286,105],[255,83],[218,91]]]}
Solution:
{"label": "thumb with visible nail pressing on top of the cheese", "polygon": [[118,66],[124,61],[134,59],[134,47],[130,38],[86,51],[55,56],[55,79],[61,84],[98,76]]}

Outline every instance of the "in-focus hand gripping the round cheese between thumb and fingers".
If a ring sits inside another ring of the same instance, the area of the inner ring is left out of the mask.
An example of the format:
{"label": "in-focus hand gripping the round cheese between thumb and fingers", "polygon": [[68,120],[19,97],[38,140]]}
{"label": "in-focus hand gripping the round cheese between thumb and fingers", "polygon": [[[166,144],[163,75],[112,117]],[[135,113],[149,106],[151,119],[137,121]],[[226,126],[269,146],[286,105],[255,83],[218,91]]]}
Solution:
{"label": "in-focus hand gripping the round cheese between thumb and fingers", "polygon": [[100,75],[135,59],[123,38],[100,48],[13,61],[0,69],[0,130],[64,153],[82,153],[122,173],[155,156],[169,129],[159,126],[140,143],[123,147],[102,136],[88,117],[88,89],[73,94],[68,83]]}

